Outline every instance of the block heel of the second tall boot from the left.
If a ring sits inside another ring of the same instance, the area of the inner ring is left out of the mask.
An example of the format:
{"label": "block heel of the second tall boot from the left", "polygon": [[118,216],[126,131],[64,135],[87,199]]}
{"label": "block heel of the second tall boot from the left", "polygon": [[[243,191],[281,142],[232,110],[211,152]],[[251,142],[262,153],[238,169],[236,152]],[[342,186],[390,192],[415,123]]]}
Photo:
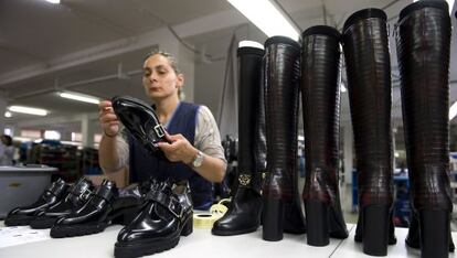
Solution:
{"label": "block heel of the second tall boot from the left", "polygon": [[283,239],[284,232],[284,203],[280,200],[264,200],[263,209],[263,230],[264,240],[278,241]]}

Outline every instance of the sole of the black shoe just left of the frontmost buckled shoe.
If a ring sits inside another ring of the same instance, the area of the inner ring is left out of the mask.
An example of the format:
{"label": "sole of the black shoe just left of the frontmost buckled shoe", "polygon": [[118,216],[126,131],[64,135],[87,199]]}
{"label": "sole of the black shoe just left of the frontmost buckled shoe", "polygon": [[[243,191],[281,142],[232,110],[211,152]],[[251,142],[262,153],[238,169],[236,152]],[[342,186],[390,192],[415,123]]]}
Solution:
{"label": "sole of the black shoe just left of the frontmost buckled shoe", "polygon": [[51,228],[52,238],[75,237],[97,234],[108,226],[108,223],[54,225]]}

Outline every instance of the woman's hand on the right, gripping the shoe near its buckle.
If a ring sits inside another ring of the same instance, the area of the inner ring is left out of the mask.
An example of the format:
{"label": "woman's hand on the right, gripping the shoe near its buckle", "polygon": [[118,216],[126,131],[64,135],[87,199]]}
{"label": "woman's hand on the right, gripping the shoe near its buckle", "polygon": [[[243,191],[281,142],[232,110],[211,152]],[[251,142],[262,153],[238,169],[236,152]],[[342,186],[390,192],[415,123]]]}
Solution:
{"label": "woman's hand on the right, gripping the shoe near its buckle", "polygon": [[160,150],[169,161],[183,162],[185,164],[192,163],[193,159],[198,154],[198,150],[183,137],[182,135],[170,136],[166,133],[168,142],[159,142]]}

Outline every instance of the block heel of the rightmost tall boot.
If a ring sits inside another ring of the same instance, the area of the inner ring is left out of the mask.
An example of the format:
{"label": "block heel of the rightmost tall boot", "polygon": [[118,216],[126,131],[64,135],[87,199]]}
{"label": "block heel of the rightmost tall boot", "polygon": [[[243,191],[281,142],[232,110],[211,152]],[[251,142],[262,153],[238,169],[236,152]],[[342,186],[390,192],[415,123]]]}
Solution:
{"label": "block heel of the rightmost tall boot", "polygon": [[444,209],[419,211],[421,257],[449,256],[449,213]]}

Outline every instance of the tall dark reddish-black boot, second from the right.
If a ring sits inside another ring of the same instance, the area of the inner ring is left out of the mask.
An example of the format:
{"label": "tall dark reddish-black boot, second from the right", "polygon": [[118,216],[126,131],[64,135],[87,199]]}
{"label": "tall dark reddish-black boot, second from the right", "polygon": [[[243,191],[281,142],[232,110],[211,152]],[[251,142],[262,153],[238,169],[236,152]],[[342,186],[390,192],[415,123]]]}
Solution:
{"label": "tall dark reddish-black boot, second from the right", "polygon": [[380,9],[353,13],[344,23],[343,51],[359,189],[355,240],[363,241],[364,254],[385,256],[389,241],[396,241],[391,230],[392,86],[385,13]]}

